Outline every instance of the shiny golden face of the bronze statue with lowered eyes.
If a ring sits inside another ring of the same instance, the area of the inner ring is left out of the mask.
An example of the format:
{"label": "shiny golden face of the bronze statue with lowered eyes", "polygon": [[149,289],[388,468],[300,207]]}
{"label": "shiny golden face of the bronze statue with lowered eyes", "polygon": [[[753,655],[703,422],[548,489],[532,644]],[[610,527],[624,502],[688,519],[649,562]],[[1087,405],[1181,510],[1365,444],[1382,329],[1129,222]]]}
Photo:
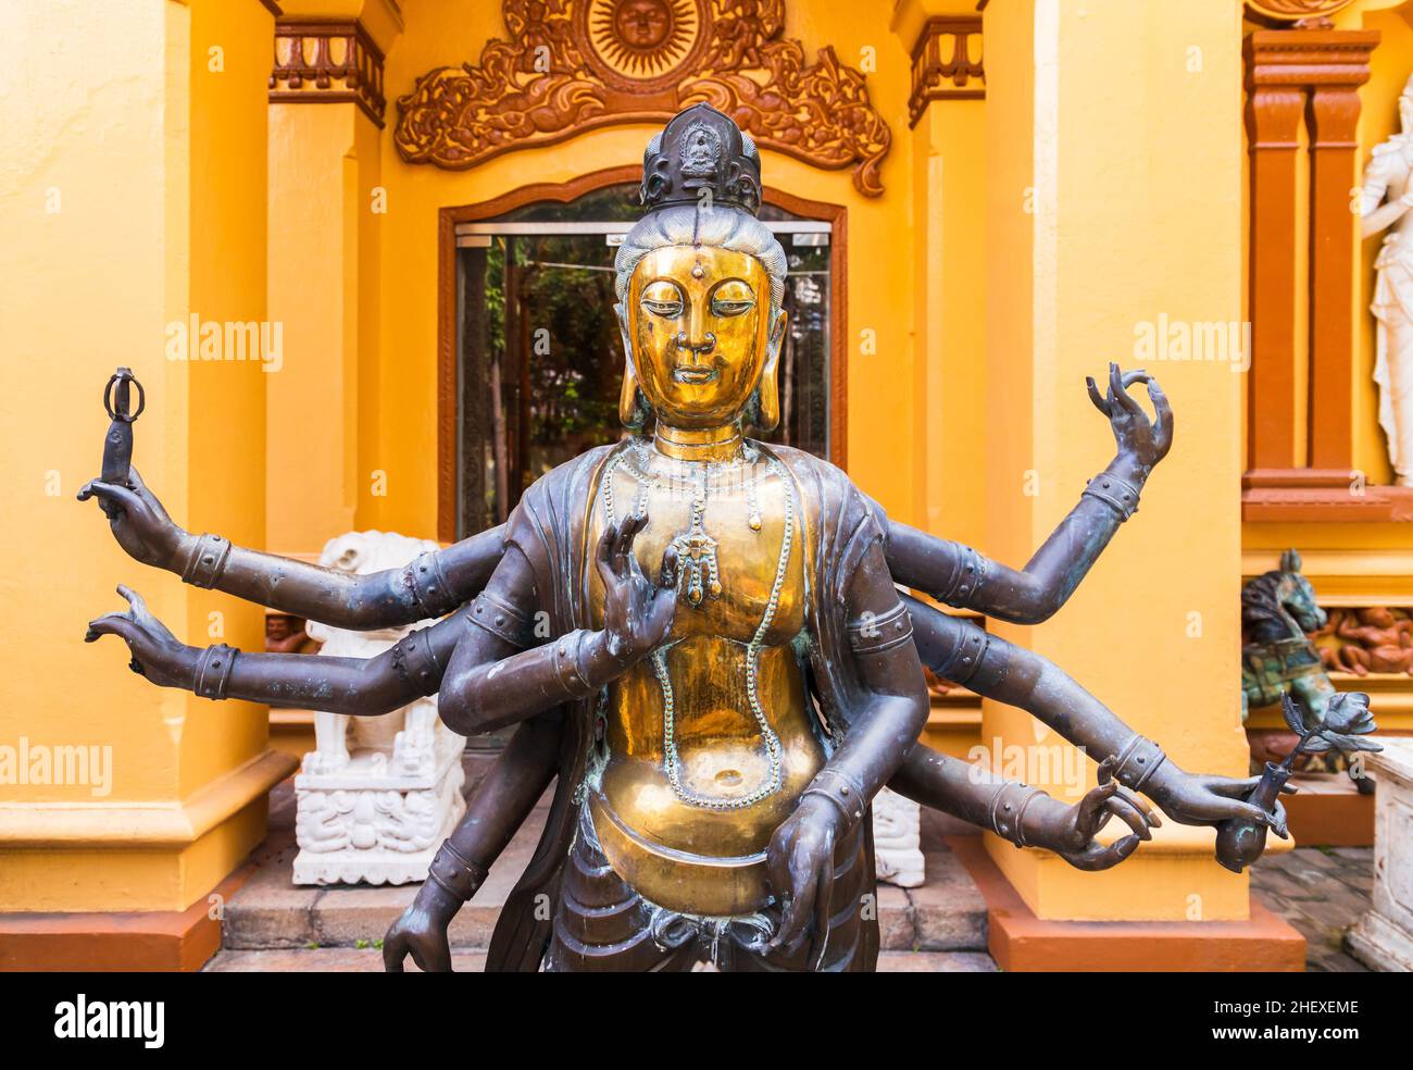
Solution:
{"label": "shiny golden face of the bronze statue with lowered eyes", "polygon": [[658,420],[738,420],[773,359],[764,266],[715,246],[656,249],[633,270],[626,305],[637,384]]}

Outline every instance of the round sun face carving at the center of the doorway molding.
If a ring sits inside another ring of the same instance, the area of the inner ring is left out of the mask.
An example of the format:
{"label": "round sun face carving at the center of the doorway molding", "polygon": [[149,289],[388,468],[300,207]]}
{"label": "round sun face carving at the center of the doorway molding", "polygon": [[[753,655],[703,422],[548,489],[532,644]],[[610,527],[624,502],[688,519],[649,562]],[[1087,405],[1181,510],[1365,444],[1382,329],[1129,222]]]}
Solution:
{"label": "round sun face carving at the center of the doorway molding", "polygon": [[606,78],[639,85],[668,79],[702,40],[701,1],[589,0],[589,51]]}

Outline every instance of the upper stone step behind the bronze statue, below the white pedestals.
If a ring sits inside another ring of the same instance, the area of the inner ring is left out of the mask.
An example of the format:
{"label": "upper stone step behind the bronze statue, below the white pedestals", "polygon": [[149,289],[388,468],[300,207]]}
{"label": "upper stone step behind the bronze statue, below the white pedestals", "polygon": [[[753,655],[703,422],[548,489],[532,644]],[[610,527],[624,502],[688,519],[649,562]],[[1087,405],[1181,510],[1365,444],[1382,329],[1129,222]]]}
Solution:
{"label": "upper stone step behind the bronze statue, below the white pedestals", "polygon": [[[292,830],[294,803],[287,789],[288,784],[281,784],[273,793],[270,835],[252,857],[254,865],[250,878],[225,906],[223,948],[227,951],[376,948],[376,941],[383,939],[387,927],[413,902],[418,885],[295,886],[290,881],[297,849]],[[449,933],[454,950],[469,954],[490,944],[500,907],[524,872],[538,842],[545,810],[545,803],[537,807],[496,861],[486,883],[456,916]],[[879,927],[883,948],[928,953],[971,951],[985,956],[986,905],[981,892],[957,858],[942,845],[940,830],[924,824],[923,847],[927,859],[927,881],[923,886],[911,889],[879,886]]]}

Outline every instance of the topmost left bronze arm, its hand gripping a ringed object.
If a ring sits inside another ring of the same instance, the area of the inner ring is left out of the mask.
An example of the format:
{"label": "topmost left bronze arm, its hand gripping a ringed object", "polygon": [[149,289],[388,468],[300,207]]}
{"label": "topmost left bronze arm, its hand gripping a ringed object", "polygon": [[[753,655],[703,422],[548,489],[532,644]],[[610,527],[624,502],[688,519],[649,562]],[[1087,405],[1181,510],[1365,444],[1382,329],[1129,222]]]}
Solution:
{"label": "topmost left bronze arm, its hand gripping a ringed object", "polygon": [[137,469],[131,483],[95,479],[79,490],[81,502],[96,498],[110,510],[113,534],[131,557],[188,584],[335,628],[398,628],[449,613],[485,587],[500,561],[504,527],[493,527],[403,568],[349,575],[244,550],[222,536],[191,534],[172,522]]}

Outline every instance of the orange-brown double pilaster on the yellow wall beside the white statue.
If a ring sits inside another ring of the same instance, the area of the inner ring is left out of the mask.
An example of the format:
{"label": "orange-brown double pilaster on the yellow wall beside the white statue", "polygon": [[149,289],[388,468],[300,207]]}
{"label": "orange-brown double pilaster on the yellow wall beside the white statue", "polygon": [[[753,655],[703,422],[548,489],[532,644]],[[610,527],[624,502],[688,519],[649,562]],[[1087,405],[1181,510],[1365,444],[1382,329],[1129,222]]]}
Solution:
{"label": "orange-brown double pilaster on the yellow wall beside the white statue", "polygon": [[[1359,259],[1349,189],[1358,174],[1358,88],[1369,79],[1369,54],[1378,42],[1378,31],[1366,30],[1246,35],[1252,321],[1246,520],[1395,519],[1392,503],[1348,492],[1355,359],[1349,294]],[[1301,151],[1308,153],[1308,189],[1301,189],[1299,177]],[[1304,277],[1296,219],[1306,221],[1308,233]],[[1299,336],[1301,305],[1308,325]],[[1308,368],[1308,390],[1297,404],[1301,366]],[[1306,444],[1297,455],[1300,425]]]}

